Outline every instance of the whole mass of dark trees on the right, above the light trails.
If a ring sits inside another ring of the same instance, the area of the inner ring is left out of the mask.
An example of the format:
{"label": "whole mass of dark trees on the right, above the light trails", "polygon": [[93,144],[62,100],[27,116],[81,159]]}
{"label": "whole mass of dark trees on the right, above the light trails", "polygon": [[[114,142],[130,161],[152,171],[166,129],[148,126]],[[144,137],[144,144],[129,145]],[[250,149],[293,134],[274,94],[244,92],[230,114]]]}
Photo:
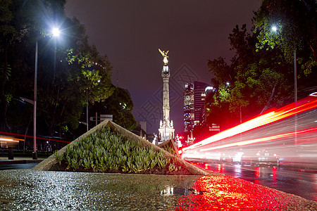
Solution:
{"label": "whole mass of dark trees on the right, above the light trails", "polygon": [[263,1],[251,33],[246,25],[232,30],[230,63],[221,57],[208,62],[217,89],[206,98],[209,124],[228,128],[240,122],[240,115],[244,121],[294,101],[295,49],[299,98],[316,91],[316,4]]}

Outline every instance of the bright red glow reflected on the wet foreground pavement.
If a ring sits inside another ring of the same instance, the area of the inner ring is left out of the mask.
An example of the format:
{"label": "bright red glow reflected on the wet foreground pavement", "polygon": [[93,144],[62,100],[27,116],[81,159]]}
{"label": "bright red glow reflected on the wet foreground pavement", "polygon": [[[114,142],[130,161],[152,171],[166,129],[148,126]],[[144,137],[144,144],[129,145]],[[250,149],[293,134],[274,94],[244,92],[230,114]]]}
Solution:
{"label": "bright red glow reflected on the wet foreground pavement", "polygon": [[226,176],[201,177],[194,190],[190,196],[180,198],[175,210],[289,210],[288,202],[294,197]]}

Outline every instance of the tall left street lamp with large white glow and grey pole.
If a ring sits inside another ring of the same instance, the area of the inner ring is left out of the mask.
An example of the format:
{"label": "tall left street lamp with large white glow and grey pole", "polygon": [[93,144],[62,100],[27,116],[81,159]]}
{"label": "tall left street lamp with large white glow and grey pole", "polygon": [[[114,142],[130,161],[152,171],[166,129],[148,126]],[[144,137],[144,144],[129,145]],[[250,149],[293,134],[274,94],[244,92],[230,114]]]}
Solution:
{"label": "tall left street lamp with large white glow and grey pole", "polygon": [[[58,36],[60,31],[58,28],[51,30],[53,37]],[[33,106],[33,143],[34,149],[32,153],[32,159],[37,160],[37,54],[39,51],[39,39],[35,39],[35,74],[34,74],[34,106]]]}

